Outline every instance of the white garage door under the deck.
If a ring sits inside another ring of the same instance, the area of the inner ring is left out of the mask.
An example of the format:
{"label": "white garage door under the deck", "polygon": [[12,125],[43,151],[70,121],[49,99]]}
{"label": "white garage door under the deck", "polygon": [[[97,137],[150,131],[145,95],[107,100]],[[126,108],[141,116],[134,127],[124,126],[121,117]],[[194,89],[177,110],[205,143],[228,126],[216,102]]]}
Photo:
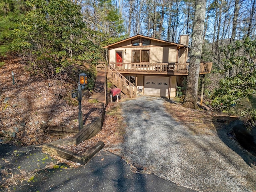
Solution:
{"label": "white garage door under the deck", "polygon": [[168,97],[170,77],[145,76],[144,94]]}

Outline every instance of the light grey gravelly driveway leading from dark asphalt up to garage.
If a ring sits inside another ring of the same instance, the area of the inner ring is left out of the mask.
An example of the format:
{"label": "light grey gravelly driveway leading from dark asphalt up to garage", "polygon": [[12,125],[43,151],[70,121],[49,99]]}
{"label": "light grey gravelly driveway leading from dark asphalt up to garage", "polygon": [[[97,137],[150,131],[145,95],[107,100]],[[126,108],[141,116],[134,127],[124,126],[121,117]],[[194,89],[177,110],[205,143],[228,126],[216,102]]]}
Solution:
{"label": "light grey gravelly driveway leading from dark asphalt up to garage", "polygon": [[126,162],[198,191],[255,191],[256,170],[211,134],[195,134],[167,112],[160,97],[120,102],[126,133],[116,146]]}

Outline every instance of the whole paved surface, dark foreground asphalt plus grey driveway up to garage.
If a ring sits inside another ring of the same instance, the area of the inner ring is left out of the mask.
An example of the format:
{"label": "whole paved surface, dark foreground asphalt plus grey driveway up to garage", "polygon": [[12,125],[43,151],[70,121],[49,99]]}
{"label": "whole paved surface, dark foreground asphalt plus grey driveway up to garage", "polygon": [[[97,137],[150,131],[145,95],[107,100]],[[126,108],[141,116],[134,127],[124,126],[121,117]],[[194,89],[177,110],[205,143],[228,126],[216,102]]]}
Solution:
{"label": "whole paved surface, dark foreground asphalt plus grey driveway up to garage", "polygon": [[[221,139],[225,132],[194,134],[167,112],[163,98],[138,96],[121,101],[126,134],[85,166],[71,168],[41,148],[0,144],[2,191],[19,192],[190,192],[255,191],[256,170]],[[222,138],[223,139],[223,138]],[[115,148],[112,148],[115,149]],[[122,158],[121,158],[122,156]],[[256,161],[249,159],[248,161]],[[29,175],[33,171],[31,176]],[[8,172],[9,174],[6,174]],[[20,172],[28,179],[17,179]],[[3,174],[5,173],[5,174]],[[12,177],[13,176],[13,177]]]}

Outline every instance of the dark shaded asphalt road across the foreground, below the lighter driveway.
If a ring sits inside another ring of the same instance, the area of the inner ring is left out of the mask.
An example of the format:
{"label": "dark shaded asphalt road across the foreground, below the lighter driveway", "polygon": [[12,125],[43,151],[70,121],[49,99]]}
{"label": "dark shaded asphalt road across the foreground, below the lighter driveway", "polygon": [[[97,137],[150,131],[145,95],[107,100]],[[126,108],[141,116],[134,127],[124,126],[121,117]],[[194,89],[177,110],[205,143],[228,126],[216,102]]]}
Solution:
{"label": "dark shaded asphalt road across the foreground, below the lighter driveway", "polygon": [[[120,156],[106,150],[101,150],[85,166],[78,168],[58,164],[57,160],[42,153],[41,148],[32,146],[0,144],[0,152],[0,189],[3,192],[194,191],[152,174],[132,172]],[[50,164],[54,164],[54,168],[47,168]],[[21,172],[23,177],[20,177]],[[6,180],[12,185],[6,186]]]}

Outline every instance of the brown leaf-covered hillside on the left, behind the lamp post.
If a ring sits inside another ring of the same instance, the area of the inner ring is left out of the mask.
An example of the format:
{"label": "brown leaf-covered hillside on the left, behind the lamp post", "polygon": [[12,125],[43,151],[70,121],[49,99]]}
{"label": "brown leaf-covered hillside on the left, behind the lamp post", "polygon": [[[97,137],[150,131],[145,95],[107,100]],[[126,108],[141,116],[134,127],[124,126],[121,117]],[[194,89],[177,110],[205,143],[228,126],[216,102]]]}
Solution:
{"label": "brown leaf-covered hillside on the left, behind the lamp post", "polygon": [[[0,67],[0,138],[16,145],[36,145],[58,140],[40,126],[78,127],[78,102],[71,98],[76,85],[31,76],[17,57],[1,58]],[[14,84],[12,80],[14,72]],[[62,83],[62,85],[60,85]],[[49,86],[50,85],[50,86]],[[56,98],[56,89],[60,98]],[[102,104],[82,99],[85,124],[102,114]]]}

